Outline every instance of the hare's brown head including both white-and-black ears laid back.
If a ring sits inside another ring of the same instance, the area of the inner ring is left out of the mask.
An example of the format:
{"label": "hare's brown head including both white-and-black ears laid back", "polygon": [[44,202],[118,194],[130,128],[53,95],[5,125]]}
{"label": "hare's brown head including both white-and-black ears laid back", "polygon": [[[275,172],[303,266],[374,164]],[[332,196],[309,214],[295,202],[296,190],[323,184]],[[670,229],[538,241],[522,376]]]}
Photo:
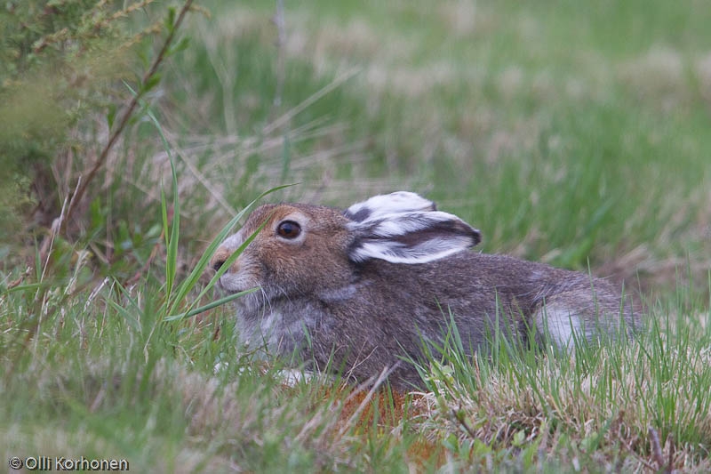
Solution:
{"label": "hare's brown head including both white-and-black ears laid back", "polygon": [[300,204],[261,205],[212,258],[220,269],[256,233],[220,278],[228,292],[260,287],[262,295],[292,298],[343,288],[377,259],[427,263],[476,245],[479,232],[414,193],[371,197],[346,211]]}

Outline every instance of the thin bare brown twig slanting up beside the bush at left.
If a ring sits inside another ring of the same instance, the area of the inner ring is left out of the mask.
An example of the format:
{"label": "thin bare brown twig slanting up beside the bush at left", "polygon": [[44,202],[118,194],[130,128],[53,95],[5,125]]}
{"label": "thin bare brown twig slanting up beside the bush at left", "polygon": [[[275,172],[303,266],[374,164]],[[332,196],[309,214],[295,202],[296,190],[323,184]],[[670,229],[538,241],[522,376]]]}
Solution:
{"label": "thin bare brown twig slanting up beside the bush at left", "polygon": [[[146,72],[146,74],[143,76],[141,84],[148,84],[148,81],[153,76],[156,75],[158,67],[161,65],[161,63],[165,59],[165,55],[168,52],[168,48],[172,44],[172,40],[175,37],[175,33],[180,28],[180,24],[182,23],[183,19],[185,18],[185,15],[190,10],[191,4],[193,4],[193,0],[186,0],[185,4],[183,4],[182,8],[180,9],[180,13],[178,14],[178,18],[175,20],[175,23],[173,24],[170,32],[168,33],[168,36],[165,38],[163,47],[161,48],[160,52],[158,52],[156,59],[153,60],[153,63],[151,64],[150,68],[148,68],[148,71]],[[109,153],[109,151],[111,151],[111,149],[116,144],[116,141],[118,140],[118,137],[121,136],[121,133],[124,132],[125,126],[128,124],[128,121],[131,118],[133,111],[135,110],[136,106],[139,103],[140,95],[141,95],[141,93],[139,92],[139,93],[134,94],[132,96],[131,101],[129,102],[128,106],[126,107],[124,116],[121,117],[121,121],[116,126],[116,129],[114,129],[114,132],[111,133],[111,135],[109,136],[106,146],[104,146],[104,148],[101,150],[101,153],[100,153],[99,157],[97,158],[96,162],[94,163],[94,165],[92,166],[92,169],[86,175],[86,178],[84,179],[84,181],[82,181],[81,185],[76,189],[74,196],[69,200],[69,206],[67,209],[67,213],[65,214],[64,219],[62,221],[60,221],[60,228],[56,229],[56,230],[52,229],[52,238],[55,237],[57,234],[65,233],[65,231],[67,230],[67,223],[68,223],[69,218],[71,217],[72,213],[76,209],[76,205],[84,197],[84,194],[86,193],[86,189],[88,189],[89,184],[93,181],[94,177],[96,176],[96,173],[98,173],[100,168],[106,164],[106,160],[108,158],[108,153]]]}

